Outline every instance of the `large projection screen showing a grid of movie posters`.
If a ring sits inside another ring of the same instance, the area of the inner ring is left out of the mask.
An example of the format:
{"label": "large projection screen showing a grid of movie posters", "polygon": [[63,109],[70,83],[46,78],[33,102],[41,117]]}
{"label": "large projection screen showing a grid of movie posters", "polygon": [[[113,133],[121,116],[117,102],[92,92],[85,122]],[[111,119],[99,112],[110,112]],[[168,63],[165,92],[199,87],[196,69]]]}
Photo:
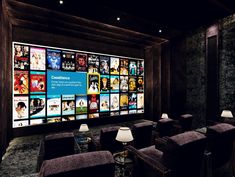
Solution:
{"label": "large projection screen showing a grid of movie posters", "polygon": [[12,43],[13,128],[144,113],[144,60]]}

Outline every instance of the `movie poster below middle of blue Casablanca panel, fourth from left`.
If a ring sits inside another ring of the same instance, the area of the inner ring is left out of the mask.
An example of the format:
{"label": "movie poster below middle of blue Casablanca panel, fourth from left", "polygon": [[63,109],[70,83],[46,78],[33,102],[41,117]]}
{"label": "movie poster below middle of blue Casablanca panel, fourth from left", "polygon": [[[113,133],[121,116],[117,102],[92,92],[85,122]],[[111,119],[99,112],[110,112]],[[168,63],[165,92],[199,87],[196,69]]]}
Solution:
{"label": "movie poster below middle of blue Casablanca panel, fourth from left", "polygon": [[62,95],[62,115],[75,114],[75,96]]}

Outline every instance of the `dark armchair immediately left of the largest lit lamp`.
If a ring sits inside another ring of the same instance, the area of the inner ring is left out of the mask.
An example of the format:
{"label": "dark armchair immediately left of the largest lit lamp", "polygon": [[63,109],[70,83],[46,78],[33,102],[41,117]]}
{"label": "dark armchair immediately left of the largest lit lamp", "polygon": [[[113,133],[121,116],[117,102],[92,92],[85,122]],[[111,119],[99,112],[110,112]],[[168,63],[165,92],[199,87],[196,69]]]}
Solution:
{"label": "dark armchair immediately left of the largest lit lamp", "polygon": [[99,136],[93,136],[91,143],[89,143],[89,149],[96,150],[108,150],[112,153],[123,149],[123,145],[115,138],[120,126],[104,127],[101,128]]}

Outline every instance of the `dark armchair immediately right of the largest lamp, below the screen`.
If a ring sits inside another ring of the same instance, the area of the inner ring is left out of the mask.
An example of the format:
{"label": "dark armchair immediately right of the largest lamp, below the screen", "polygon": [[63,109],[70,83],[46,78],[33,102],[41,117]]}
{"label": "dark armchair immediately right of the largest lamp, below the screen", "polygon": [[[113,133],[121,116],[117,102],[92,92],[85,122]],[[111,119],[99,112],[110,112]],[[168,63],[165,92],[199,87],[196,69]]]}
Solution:
{"label": "dark armchair immediately right of the largest lamp, below the screen", "polygon": [[140,149],[152,145],[152,131],[152,121],[144,121],[134,124],[132,126],[132,133],[134,137],[133,146],[137,149]]}

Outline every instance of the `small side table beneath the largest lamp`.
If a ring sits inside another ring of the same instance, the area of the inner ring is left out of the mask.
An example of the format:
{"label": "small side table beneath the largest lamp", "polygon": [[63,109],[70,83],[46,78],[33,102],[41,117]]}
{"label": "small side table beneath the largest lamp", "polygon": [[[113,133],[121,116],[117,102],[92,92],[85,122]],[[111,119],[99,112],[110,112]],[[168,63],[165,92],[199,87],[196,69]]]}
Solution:
{"label": "small side table beneath the largest lamp", "polygon": [[132,158],[129,155],[124,154],[124,151],[114,153],[113,158],[115,161],[116,177],[131,177],[133,169]]}

